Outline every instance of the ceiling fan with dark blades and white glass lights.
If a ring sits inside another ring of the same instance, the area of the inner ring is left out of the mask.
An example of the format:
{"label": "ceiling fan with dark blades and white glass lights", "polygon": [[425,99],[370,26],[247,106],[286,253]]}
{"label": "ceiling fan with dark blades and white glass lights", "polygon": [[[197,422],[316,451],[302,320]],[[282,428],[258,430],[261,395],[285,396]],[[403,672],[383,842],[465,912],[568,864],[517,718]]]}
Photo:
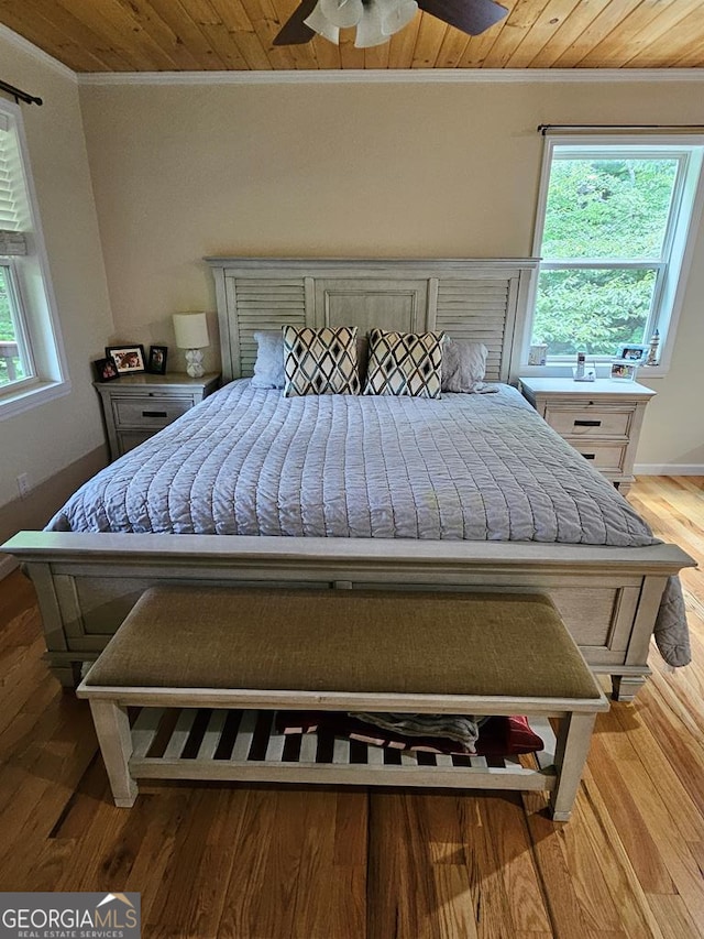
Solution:
{"label": "ceiling fan with dark blades and white glass lights", "polygon": [[341,29],[356,26],[354,45],[369,48],[387,42],[419,9],[471,36],[508,14],[494,0],[301,0],[274,45],[300,45],[316,33],[339,43]]}

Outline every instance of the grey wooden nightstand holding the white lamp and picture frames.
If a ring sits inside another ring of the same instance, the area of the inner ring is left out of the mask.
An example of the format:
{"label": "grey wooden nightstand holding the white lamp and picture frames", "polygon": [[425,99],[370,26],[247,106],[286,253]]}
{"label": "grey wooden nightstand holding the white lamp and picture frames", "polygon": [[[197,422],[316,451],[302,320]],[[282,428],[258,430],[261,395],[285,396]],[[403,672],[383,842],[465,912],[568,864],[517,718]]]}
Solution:
{"label": "grey wooden nightstand holding the white lamp and picture frames", "polygon": [[185,414],[219,385],[220,374],[200,379],[187,374],[121,375],[112,382],[94,382],[106,418],[110,459],[153,437]]}

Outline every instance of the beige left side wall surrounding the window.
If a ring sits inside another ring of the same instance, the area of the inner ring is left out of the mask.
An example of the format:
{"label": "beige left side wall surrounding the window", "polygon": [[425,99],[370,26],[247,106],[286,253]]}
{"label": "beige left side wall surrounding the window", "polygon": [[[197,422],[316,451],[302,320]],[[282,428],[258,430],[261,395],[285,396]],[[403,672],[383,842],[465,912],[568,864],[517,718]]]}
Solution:
{"label": "beige left side wall surrounding the window", "polygon": [[[0,506],[9,534],[15,477],[41,487],[103,444],[90,360],[112,329],[96,209],[75,79],[9,42],[0,32],[2,78],[44,99],[23,106],[40,215],[68,359],[70,394],[0,422]],[[25,505],[15,504],[18,517]],[[46,512],[51,505],[46,505]]]}

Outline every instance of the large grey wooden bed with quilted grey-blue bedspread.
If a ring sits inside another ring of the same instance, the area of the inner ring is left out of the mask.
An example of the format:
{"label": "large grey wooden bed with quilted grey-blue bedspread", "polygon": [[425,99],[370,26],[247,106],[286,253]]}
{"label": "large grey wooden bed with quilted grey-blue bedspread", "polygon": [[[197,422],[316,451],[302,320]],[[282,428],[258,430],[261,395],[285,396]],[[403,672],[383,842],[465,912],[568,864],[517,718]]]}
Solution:
{"label": "large grey wooden bed with quilted grey-blue bedspread", "polygon": [[[525,261],[208,259],[224,386],[6,550],[37,588],[65,685],[164,582],[549,592],[631,698],[650,638],[689,658],[676,572],[628,503],[508,385]],[[488,349],[496,393],[282,398],[246,378],[283,325],[443,330]],[[148,498],[147,498],[148,496]]]}

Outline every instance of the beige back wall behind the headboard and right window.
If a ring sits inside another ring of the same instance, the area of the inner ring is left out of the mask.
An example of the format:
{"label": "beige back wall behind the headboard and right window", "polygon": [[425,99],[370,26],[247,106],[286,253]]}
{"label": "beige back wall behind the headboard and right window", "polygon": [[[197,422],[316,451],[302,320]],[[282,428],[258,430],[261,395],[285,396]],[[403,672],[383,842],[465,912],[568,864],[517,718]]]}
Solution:
{"label": "beige back wall behind the headboard and right window", "polygon": [[[208,254],[531,251],[539,123],[704,123],[701,85],[86,86],[116,338],[215,309]],[[703,463],[704,238],[638,462]],[[217,361],[211,350],[211,363]]]}

